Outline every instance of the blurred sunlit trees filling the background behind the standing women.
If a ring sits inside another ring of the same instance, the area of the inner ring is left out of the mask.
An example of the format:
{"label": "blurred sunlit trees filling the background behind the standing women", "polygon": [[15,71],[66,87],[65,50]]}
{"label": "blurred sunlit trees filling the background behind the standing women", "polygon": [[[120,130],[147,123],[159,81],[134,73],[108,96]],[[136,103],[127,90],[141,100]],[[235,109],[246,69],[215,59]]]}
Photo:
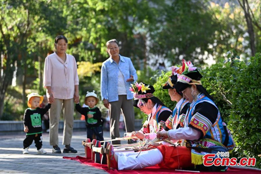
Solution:
{"label": "blurred sunlit trees filling the background behind the standing women", "polygon": [[44,59],[57,35],[68,38],[80,90],[99,90],[99,65],[112,38],[140,71],[139,80],[152,84],[154,71],[182,58],[209,65],[232,50],[249,60],[261,50],[260,6],[260,0],[1,0],[0,119],[12,86],[22,89],[23,108],[28,90],[45,93]]}

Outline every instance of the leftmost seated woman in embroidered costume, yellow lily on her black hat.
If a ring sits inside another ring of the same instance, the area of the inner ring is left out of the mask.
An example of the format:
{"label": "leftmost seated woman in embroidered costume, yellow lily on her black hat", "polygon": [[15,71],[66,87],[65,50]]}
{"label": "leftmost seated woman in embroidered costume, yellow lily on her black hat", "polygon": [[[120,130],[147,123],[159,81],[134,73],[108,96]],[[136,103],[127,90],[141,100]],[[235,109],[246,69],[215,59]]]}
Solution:
{"label": "leftmost seated woman in embroidered costume, yellow lily on her black hat", "polygon": [[156,137],[156,133],[163,129],[166,120],[171,115],[171,110],[160,99],[153,96],[155,89],[151,85],[136,82],[130,90],[134,97],[133,106],[148,114],[140,131],[134,131],[132,135],[139,139],[153,139]]}

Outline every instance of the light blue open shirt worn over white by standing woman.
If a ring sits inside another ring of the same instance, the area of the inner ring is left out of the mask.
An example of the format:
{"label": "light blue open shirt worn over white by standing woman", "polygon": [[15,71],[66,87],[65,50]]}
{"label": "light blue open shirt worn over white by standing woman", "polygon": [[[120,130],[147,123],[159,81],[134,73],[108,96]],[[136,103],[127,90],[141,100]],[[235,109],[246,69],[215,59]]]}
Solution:
{"label": "light blue open shirt worn over white by standing woman", "polygon": [[106,61],[102,63],[101,70],[101,95],[102,100],[108,99],[109,102],[118,101],[118,74],[119,70],[124,76],[125,87],[127,91],[127,99],[133,99],[133,94],[129,91],[131,83],[133,81],[127,82],[126,80],[133,75],[134,81],[137,81],[138,76],[136,70],[131,62],[131,59],[119,55],[120,61],[119,65],[109,57]]}

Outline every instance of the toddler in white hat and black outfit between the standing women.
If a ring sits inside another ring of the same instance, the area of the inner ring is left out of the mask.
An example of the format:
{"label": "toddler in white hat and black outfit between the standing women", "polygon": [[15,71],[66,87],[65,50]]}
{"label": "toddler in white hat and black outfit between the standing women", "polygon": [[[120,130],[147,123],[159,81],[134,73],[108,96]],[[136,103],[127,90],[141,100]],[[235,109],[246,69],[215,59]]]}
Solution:
{"label": "toddler in white hat and black outfit between the standing women", "polygon": [[97,140],[103,141],[103,130],[102,130],[102,113],[98,107],[95,105],[98,103],[99,99],[95,94],[95,91],[89,93],[87,92],[84,104],[88,107],[81,107],[79,103],[76,104],[76,110],[85,116],[86,128],[87,128],[87,138],[93,141],[93,137]]}

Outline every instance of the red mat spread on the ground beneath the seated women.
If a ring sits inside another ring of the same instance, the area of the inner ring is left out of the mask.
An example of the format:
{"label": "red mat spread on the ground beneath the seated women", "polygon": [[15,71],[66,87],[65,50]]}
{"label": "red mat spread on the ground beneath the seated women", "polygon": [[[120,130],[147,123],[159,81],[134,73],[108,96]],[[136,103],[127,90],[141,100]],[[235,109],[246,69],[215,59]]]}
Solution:
{"label": "red mat spread on the ground beneath the seated women", "polygon": [[[85,157],[80,157],[80,156],[76,156],[76,157],[63,157],[64,159],[68,159],[68,160],[75,160],[78,161],[82,164],[86,164],[88,166],[92,166],[98,169],[103,169],[104,171],[111,173],[111,174],[151,174],[151,173],[161,173],[161,174],[169,174],[169,173],[195,173],[195,172],[183,172],[183,171],[175,171],[172,169],[163,169],[160,168],[159,166],[152,166],[152,167],[146,167],[143,169],[136,169],[136,170],[124,170],[124,171],[118,171],[118,170],[109,170],[108,166],[105,164],[98,164],[98,163],[94,163],[91,159],[86,159]],[[247,168],[234,168],[234,167],[230,167],[227,171],[225,172],[200,172],[201,174],[223,174],[223,173],[228,173],[228,174],[240,174],[240,173],[244,173],[244,174],[260,174],[260,171],[254,170],[254,169],[247,169]]]}

